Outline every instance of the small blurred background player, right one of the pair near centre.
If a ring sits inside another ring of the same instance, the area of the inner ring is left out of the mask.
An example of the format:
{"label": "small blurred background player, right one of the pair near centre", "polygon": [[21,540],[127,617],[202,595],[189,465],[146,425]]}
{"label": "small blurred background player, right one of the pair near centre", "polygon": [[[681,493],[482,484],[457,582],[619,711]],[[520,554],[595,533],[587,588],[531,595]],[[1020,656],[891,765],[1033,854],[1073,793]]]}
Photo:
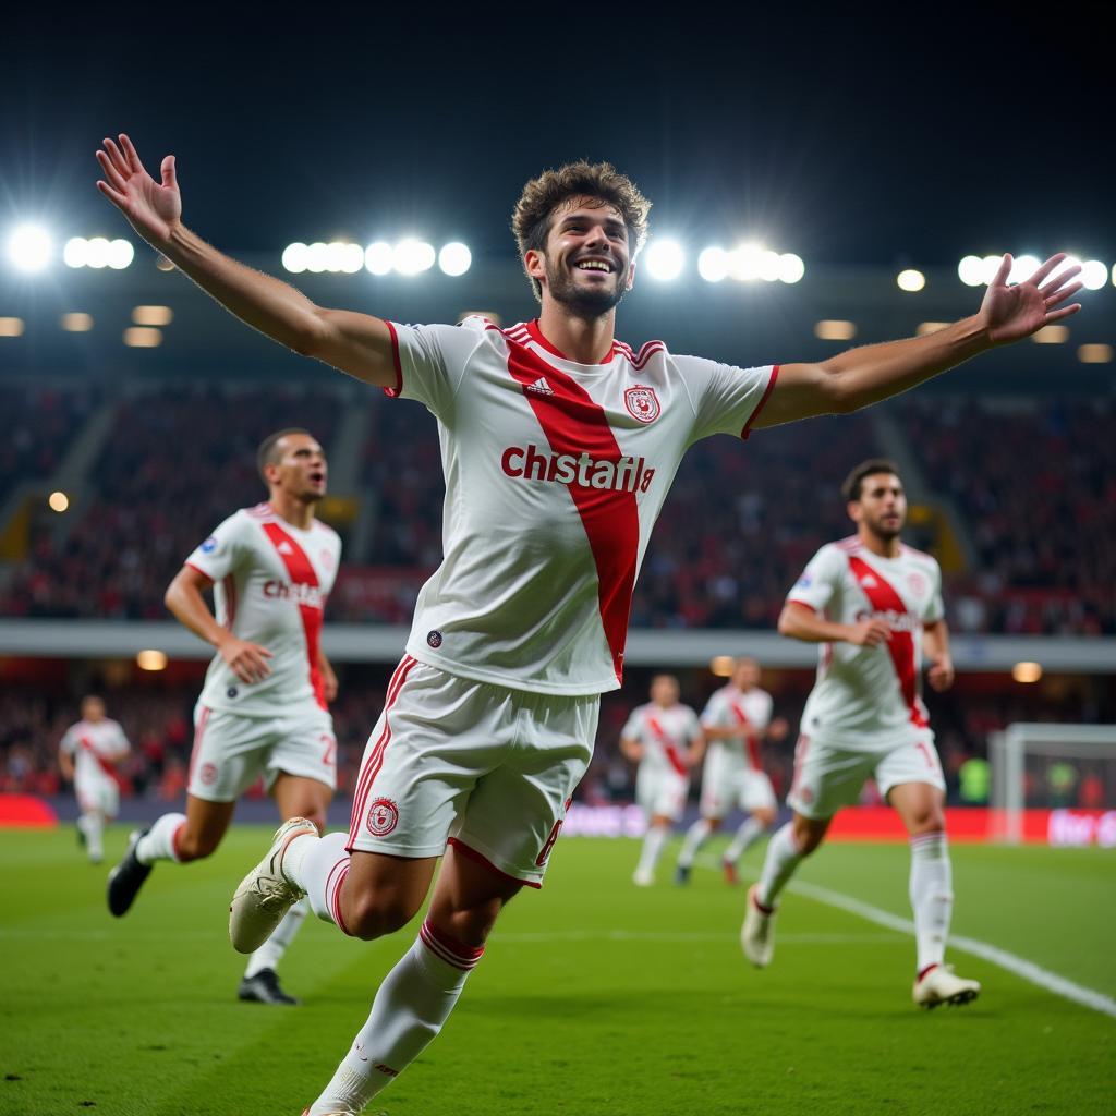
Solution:
{"label": "small blurred background player, right one of the pair near centre", "polygon": [[[710,835],[721,828],[724,816],[739,808],[748,816],[721,856],[721,868],[730,884],[739,883],[737,862],[775,825],[779,810],[771,780],[763,770],[760,744],[766,737],[782,740],[787,722],[771,720],[771,695],[760,689],[760,664],[738,660],[729,684],[715,691],[701,715],[705,740],[705,767],[701,780],[701,817],[690,827],[675,867],[675,883],[690,879],[694,858]],[[701,754],[695,758],[701,761]]]}

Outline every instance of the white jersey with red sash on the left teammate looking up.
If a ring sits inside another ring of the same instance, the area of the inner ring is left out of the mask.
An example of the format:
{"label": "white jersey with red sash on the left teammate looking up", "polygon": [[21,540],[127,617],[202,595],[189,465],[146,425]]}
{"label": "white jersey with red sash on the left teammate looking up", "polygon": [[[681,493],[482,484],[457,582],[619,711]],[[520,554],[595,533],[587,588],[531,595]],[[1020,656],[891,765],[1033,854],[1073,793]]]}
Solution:
{"label": "white jersey with red sash on the left teammate looking up", "polygon": [[271,673],[250,685],[215,655],[201,704],[249,716],[326,708],[318,656],[326,597],[340,562],[337,532],[288,523],[269,503],[230,516],[186,559],[213,581],[218,623],[271,652]]}

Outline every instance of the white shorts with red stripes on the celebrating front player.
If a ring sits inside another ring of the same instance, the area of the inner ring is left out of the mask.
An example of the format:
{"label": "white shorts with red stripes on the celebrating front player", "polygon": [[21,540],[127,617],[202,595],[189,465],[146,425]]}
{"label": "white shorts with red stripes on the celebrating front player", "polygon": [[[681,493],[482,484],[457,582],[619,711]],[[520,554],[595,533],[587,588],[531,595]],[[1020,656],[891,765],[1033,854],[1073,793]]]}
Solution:
{"label": "white shorts with red stripes on the celebrating front player", "polygon": [[597,694],[510,690],[404,656],[360,762],[348,849],[446,844],[540,887],[597,733]]}

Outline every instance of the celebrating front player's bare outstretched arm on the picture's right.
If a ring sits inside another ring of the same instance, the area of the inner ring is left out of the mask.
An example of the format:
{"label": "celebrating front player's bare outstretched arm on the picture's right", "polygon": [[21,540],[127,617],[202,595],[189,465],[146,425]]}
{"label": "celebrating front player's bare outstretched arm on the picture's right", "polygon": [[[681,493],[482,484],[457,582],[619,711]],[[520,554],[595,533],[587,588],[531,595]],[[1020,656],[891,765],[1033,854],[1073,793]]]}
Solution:
{"label": "celebrating front player's bare outstretched arm on the picture's right", "polygon": [[1004,256],[980,310],[923,337],[849,349],[819,364],[785,364],[771,397],[756,421],[777,426],[821,414],[847,414],[898,395],[970,357],[1010,345],[1068,318],[1079,302],[1062,304],[1081,289],[1080,267],[1050,276],[1066,259],[1051,256],[1026,282],[1008,286],[1012,260]]}

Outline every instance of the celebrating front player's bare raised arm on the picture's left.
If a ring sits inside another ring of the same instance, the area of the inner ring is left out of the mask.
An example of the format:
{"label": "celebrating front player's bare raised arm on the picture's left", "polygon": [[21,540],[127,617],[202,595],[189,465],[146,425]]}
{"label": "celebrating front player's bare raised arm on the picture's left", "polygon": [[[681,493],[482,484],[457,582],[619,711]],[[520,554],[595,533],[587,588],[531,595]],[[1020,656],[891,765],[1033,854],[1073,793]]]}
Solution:
{"label": "celebrating front player's bare raised arm on the picture's left", "polygon": [[272,340],[331,364],[369,384],[395,383],[392,336],[379,318],[328,310],[289,283],[238,263],[182,223],[182,194],[174,156],[162,164],[162,182],[144,169],[132,141],[105,140],[97,162],[105,177],[97,189],[136,232],[225,309]]}

